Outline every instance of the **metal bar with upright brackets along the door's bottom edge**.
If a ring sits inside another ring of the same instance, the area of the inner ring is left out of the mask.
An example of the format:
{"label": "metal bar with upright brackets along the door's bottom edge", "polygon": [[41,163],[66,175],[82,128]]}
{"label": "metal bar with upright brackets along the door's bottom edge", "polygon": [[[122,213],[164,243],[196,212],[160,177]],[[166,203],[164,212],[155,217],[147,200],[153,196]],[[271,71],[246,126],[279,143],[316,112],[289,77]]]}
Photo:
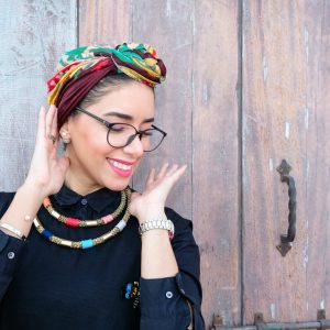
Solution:
{"label": "metal bar with upright brackets along the door's bottom edge", "polygon": [[218,315],[213,316],[213,324],[211,330],[266,330],[266,329],[330,329],[330,320],[326,318],[326,310],[319,309],[317,312],[317,321],[310,322],[272,322],[266,323],[262,312],[254,315],[254,324],[252,326],[224,326],[222,318]]}

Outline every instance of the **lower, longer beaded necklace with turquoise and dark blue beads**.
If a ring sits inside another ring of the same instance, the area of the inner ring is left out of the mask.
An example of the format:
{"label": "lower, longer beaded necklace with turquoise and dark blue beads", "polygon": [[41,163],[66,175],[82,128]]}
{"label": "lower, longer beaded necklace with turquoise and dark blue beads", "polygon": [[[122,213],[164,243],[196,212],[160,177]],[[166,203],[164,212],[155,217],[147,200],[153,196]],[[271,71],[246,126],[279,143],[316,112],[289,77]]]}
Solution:
{"label": "lower, longer beaded necklace with turquoise and dark blue beads", "polygon": [[[129,204],[131,200],[131,190],[125,189],[124,194],[125,194],[125,200],[128,202],[127,202],[127,210],[125,210],[123,218],[116,224],[114,228],[112,228],[110,231],[106,232],[105,234],[102,234],[96,239],[87,239],[87,240],[82,240],[82,241],[69,241],[66,239],[58,238],[58,237],[54,235],[50,230],[45,229],[43,227],[42,222],[37,219],[37,217],[35,217],[33,220],[34,227],[36,228],[38,233],[41,233],[45,239],[47,239],[52,243],[63,245],[66,248],[72,248],[72,249],[94,248],[96,245],[102,244],[106,241],[112,239],[113,237],[116,237],[118,233],[120,233],[125,228],[125,226],[131,217],[131,213],[129,211]],[[78,221],[82,221],[82,220],[78,220]],[[96,221],[96,220],[89,220],[89,221]]]}

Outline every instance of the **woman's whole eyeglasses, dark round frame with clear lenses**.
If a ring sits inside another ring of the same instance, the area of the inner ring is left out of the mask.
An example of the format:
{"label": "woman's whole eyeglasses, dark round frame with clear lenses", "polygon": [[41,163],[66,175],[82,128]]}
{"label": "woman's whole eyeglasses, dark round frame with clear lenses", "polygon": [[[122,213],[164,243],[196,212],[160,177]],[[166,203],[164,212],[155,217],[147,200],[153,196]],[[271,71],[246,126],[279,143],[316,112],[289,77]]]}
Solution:
{"label": "woman's whole eyeglasses, dark round frame with clear lenses", "polygon": [[106,128],[108,128],[107,141],[113,147],[124,147],[132,143],[136,136],[139,136],[143,145],[143,151],[152,152],[161,145],[164,138],[167,135],[167,133],[156,128],[155,125],[152,125],[151,129],[144,131],[138,131],[131,124],[118,122],[110,123],[80,107],[76,107],[76,109],[89,117],[92,117]]}

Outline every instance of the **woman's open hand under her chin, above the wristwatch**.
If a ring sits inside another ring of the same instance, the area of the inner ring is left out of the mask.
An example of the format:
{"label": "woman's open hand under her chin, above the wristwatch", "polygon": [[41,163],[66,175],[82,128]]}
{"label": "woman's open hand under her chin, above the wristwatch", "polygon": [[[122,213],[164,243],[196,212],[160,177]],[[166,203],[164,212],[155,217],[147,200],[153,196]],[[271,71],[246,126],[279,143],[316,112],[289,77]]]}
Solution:
{"label": "woman's open hand under her chin, above the wristwatch", "polygon": [[169,166],[164,164],[156,174],[153,168],[148,173],[145,183],[145,189],[142,194],[133,193],[130,204],[130,212],[135,216],[140,222],[147,221],[164,215],[164,207],[167,196],[174,185],[184,175],[187,165]]}

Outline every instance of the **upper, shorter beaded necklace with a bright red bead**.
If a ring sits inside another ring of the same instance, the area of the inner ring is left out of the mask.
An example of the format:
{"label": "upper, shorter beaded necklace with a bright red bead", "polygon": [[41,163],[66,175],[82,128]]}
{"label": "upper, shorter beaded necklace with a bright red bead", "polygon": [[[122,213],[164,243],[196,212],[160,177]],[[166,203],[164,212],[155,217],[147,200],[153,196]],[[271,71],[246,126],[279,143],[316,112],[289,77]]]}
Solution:
{"label": "upper, shorter beaded necklace with a bright red bead", "polygon": [[59,222],[65,223],[66,226],[69,227],[96,227],[96,226],[103,226],[109,222],[111,222],[114,218],[117,218],[124,209],[127,200],[128,200],[128,195],[129,195],[129,188],[124,189],[121,191],[121,201],[117,210],[108,216],[101,217],[99,219],[95,220],[79,220],[77,218],[69,218],[65,217],[63,215],[59,215],[52,206],[52,202],[48,197],[46,197],[43,201],[43,206],[45,209],[48,211],[48,213],[57,219]]}

